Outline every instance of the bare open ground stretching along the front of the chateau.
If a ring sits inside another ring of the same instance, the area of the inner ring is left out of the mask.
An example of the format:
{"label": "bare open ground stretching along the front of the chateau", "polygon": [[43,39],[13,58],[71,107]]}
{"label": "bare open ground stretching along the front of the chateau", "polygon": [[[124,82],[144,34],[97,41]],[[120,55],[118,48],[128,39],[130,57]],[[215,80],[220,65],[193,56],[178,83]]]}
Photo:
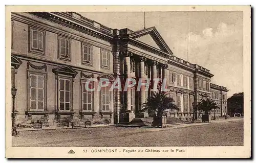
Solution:
{"label": "bare open ground stretching along the front of the chateau", "polygon": [[97,127],[20,132],[13,147],[243,146],[243,120],[173,128]]}

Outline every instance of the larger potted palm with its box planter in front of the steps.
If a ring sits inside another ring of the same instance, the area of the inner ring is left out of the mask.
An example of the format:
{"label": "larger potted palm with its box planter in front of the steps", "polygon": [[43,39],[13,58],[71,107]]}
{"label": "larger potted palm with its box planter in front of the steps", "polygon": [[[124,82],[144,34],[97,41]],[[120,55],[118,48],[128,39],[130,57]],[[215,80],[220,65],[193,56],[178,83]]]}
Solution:
{"label": "larger potted palm with its box planter in front of the steps", "polygon": [[152,92],[152,95],[147,98],[147,102],[143,103],[142,110],[147,110],[148,113],[154,113],[153,126],[164,127],[166,125],[166,113],[168,109],[177,110],[174,104],[174,99],[170,98],[166,92]]}

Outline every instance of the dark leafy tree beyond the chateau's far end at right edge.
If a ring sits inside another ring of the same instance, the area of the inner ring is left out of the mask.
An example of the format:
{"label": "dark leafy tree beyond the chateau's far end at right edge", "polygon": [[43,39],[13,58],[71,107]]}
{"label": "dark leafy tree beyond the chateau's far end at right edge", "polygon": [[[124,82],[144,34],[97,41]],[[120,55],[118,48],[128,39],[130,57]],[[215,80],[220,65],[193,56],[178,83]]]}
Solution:
{"label": "dark leafy tree beyond the chateau's far end at right edge", "polygon": [[241,113],[244,114],[244,92],[234,94],[227,99],[227,108],[230,114]]}

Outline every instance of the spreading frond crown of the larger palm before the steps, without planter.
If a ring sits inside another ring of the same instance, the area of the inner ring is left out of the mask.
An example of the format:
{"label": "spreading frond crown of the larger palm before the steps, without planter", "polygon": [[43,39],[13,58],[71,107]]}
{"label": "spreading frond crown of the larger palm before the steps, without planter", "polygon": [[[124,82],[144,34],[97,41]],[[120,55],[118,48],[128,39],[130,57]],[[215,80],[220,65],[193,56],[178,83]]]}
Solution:
{"label": "spreading frond crown of the larger palm before the steps, without planter", "polygon": [[166,92],[153,92],[152,95],[147,98],[147,102],[143,103],[142,110],[147,110],[148,112],[157,112],[157,116],[162,117],[165,110],[178,109],[174,102],[174,99],[168,97]]}

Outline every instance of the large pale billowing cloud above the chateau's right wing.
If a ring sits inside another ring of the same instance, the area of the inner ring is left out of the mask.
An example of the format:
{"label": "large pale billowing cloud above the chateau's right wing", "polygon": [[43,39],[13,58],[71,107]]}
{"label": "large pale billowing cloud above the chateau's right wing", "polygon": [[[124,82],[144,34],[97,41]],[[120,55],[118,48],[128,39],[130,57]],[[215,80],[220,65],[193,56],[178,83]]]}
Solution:
{"label": "large pale billowing cloud above the chateau's right wing", "polygon": [[175,45],[177,57],[187,60],[189,56],[189,62],[210,69],[215,75],[212,81],[227,86],[230,96],[243,89],[243,30],[236,25],[221,22],[199,34],[190,32]]}

